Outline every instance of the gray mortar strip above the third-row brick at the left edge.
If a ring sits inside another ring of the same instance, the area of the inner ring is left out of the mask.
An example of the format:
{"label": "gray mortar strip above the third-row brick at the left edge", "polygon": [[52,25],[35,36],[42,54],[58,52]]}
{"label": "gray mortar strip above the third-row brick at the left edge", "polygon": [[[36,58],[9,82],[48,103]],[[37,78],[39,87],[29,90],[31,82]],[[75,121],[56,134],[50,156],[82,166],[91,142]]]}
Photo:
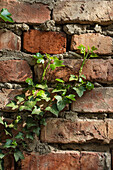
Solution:
{"label": "gray mortar strip above the third-row brick at the left edge", "polygon": [[1,50],[0,61],[5,60],[26,60],[31,66],[34,66],[36,63],[36,60],[31,54],[26,54],[20,51]]}

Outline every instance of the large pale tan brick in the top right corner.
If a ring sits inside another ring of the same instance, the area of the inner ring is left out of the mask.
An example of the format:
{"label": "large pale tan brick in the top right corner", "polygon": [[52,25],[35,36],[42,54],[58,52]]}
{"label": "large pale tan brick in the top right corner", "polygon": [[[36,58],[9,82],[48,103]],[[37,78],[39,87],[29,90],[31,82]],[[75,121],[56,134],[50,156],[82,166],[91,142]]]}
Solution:
{"label": "large pale tan brick in the top right corner", "polygon": [[110,1],[60,1],[53,9],[57,23],[101,23],[113,21],[113,2]]}

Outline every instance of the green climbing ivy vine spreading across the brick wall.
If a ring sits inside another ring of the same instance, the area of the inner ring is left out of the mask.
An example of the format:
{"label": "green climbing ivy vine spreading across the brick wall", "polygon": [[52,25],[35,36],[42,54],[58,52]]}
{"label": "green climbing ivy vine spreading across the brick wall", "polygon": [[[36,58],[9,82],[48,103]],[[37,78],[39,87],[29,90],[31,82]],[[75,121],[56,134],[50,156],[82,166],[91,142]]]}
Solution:
{"label": "green climbing ivy vine spreading across the brick wall", "polygon": [[[13,22],[10,16],[7,9],[0,13],[4,21]],[[35,83],[31,78],[27,78],[27,88],[7,105],[15,113],[13,120],[9,122],[3,116],[0,117],[6,136],[6,139],[0,141],[0,169],[3,169],[3,158],[8,154],[13,154],[16,162],[24,159],[22,151],[27,148],[28,142],[40,135],[40,127],[46,125],[48,112],[58,117],[67,104],[76,100],[76,96],[82,97],[86,90],[94,88],[93,83],[87,81],[82,74],[82,70],[89,58],[97,57],[94,53],[97,49],[94,46],[91,49],[88,47],[86,52],[83,45],[78,49],[83,57],[78,75],[70,75],[68,82],[57,78],[52,88],[47,81],[47,73],[57,67],[65,67],[63,60],[49,54],[36,53],[33,56],[43,70],[40,82]]]}

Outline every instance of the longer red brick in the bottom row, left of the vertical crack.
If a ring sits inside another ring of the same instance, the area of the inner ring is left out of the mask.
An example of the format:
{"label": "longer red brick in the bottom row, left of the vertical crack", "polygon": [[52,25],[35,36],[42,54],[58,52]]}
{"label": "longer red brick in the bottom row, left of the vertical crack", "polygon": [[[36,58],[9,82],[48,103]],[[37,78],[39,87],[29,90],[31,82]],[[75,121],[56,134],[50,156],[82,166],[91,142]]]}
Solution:
{"label": "longer red brick in the bottom row, left of the vertical crack", "polygon": [[76,151],[52,152],[45,155],[32,153],[25,155],[21,162],[22,170],[80,170],[80,153]]}

